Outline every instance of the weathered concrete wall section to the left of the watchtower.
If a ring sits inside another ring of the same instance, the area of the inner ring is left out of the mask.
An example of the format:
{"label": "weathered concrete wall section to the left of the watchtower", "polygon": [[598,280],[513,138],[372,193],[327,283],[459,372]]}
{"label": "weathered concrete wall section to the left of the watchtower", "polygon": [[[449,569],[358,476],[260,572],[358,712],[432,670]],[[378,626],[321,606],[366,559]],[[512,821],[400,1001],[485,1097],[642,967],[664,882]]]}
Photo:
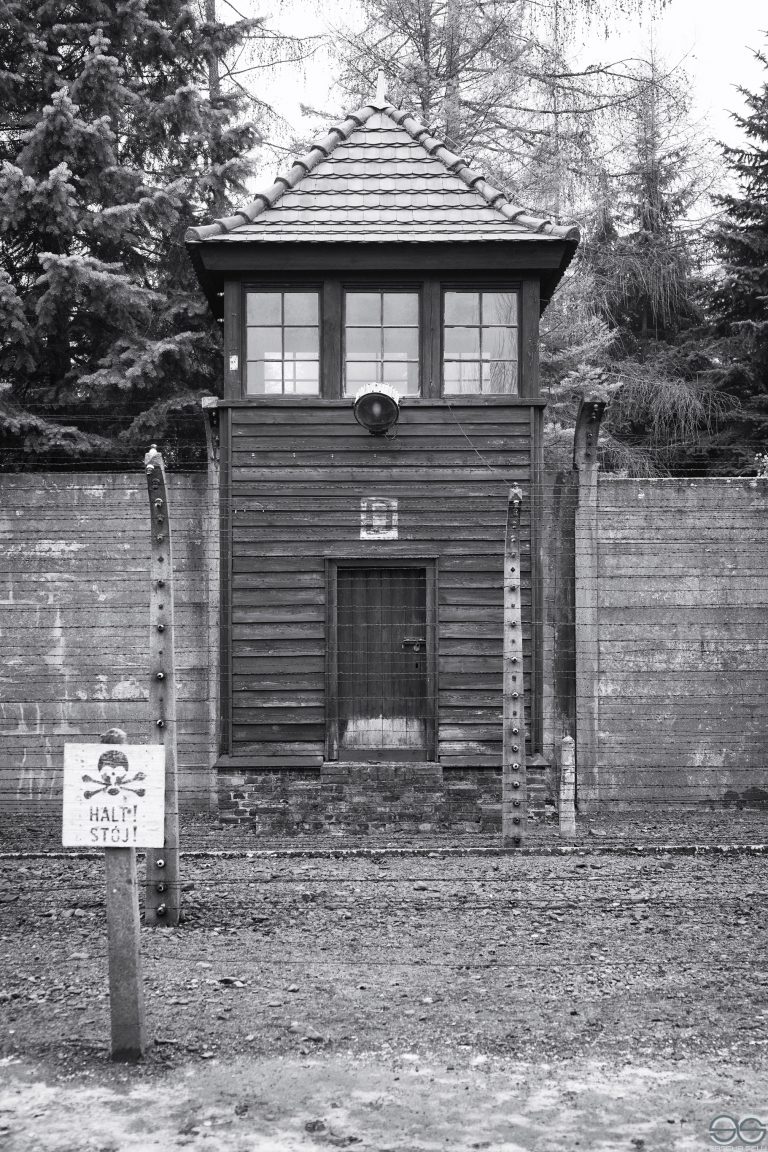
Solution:
{"label": "weathered concrete wall section to the left of the watchtower", "polygon": [[[206,483],[204,473],[169,482],[188,810],[213,795]],[[0,538],[0,813],[58,820],[66,742],[120,726],[143,743],[150,732],[144,475],[1,475]]]}

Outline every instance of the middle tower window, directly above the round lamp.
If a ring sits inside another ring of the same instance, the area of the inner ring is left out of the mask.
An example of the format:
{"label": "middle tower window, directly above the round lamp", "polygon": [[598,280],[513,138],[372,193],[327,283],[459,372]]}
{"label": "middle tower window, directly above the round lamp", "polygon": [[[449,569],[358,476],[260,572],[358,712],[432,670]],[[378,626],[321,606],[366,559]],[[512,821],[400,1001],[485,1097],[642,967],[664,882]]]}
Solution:
{"label": "middle tower window, directly above the round lamp", "polygon": [[344,394],[389,384],[419,394],[419,294],[348,291],[344,296]]}

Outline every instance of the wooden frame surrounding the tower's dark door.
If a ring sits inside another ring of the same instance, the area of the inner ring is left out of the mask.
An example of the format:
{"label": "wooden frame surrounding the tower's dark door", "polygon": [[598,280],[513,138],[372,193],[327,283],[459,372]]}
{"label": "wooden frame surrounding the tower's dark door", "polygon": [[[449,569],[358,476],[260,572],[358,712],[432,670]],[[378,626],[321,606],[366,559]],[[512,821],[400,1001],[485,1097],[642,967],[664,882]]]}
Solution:
{"label": "wooden frame surrounding the tower's dark door", "polygon": [[[432,700],[429,728],[426,738],[428,760],[438,759],[440,728],[440,698],[438,667],[440,658],[440,629],[438,614],[439,556],[382,555],[372,552],[365,556],[326,556],[326,760],[339,759],[339,597],[340,568],[423,568],[426,573],[426,629],[427,629],[427,696]],[[360,761],[364,757],[360,756]]]}

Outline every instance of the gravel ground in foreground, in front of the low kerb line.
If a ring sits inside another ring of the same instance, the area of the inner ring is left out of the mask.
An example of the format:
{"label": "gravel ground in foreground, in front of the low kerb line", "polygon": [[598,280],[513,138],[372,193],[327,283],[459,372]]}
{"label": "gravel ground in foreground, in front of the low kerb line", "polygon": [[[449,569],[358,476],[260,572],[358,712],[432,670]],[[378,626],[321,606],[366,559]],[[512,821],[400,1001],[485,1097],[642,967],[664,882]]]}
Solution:
{"label": "gravel ground in foreground, in front of the low kerb line", "polygon": [[101,861],[0,861],[0,1147],[631,1152],[768,1121],[766,857],[183,864],[126,1070]]}

